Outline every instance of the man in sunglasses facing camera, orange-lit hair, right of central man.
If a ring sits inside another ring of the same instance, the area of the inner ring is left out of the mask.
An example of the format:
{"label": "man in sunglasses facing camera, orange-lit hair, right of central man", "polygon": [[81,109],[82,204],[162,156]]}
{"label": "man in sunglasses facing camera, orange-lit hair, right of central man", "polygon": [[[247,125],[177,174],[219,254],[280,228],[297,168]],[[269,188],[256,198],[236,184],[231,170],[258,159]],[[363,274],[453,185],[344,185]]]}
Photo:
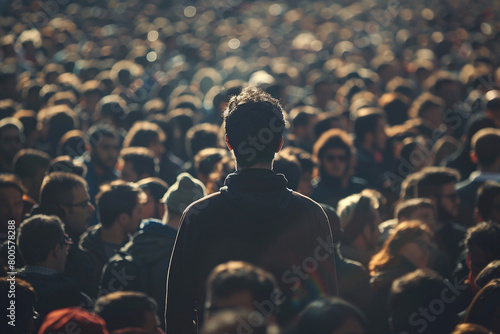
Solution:
{"label": "man in sunglasses facing camera, orange-lit hair, right of central man", "polygon": [[319,178],[314,181],[311,198],[337,207],[342,198],[360,193],[366,181],[352,176],[353,144],[347,132],[332,129],[314,144],[314,157],[319,164]]}

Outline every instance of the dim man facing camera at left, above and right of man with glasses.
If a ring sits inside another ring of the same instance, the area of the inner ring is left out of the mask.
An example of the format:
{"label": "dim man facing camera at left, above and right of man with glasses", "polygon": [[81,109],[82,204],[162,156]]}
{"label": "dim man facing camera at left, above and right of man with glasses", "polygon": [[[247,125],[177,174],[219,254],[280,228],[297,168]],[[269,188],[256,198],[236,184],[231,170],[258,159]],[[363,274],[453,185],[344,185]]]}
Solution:
{"label": "dim man facing camera at left, above and right of man with glasses", "polygon": [[[87,166],[85,179],[88,184],[90,201],[95,206],[95,197],[99,192],[99,186],[118,179],[115,165],[120,149],[118,135],[109,126],[95,125],[89,129],[88,134],[92,150],[90,157],[84,161]],[[94,213],[90,225],[97,223],[97,214]]]}

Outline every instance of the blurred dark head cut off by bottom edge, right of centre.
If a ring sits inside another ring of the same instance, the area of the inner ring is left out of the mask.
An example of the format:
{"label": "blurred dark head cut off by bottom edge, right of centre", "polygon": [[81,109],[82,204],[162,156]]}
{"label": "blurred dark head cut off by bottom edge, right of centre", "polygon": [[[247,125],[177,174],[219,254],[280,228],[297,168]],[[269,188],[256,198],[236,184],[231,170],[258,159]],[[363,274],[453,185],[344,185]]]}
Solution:
{"label": "blurred dark head cut off by bottom edge, right of centre", "polygon": [[334,297],[311,302],[302,311],[297,334],[363,334],[367,330],[364,314],[353,304]]}

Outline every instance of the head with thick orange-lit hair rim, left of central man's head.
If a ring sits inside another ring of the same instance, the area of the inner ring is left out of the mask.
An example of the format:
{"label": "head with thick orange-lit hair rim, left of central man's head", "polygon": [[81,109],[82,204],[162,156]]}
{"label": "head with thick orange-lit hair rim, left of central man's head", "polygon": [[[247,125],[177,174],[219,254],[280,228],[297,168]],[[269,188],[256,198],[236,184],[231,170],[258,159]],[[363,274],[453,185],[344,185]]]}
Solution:
{"label": "head with thick orange-lit hair rim, left of central man's head", "polygon": [[166,136],[163,130],[152,122],[137,122],[129,130],[123,141],[123,148],[146,147],[161,159],[165,153]]}

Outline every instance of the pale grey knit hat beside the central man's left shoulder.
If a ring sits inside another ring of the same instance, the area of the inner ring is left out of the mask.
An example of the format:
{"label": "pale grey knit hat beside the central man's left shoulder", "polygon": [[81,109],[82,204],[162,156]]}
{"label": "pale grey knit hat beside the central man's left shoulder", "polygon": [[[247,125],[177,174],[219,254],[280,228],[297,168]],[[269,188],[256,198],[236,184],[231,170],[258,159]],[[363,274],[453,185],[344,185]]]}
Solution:
{"label": "pale grey knit hat beside the central man's left shoulder", "polygon": [[177,176],[177,181],[168,189],[162,198],[170,213],[183,213],[194,201],[206,196],[203,183],[188,173]]}

